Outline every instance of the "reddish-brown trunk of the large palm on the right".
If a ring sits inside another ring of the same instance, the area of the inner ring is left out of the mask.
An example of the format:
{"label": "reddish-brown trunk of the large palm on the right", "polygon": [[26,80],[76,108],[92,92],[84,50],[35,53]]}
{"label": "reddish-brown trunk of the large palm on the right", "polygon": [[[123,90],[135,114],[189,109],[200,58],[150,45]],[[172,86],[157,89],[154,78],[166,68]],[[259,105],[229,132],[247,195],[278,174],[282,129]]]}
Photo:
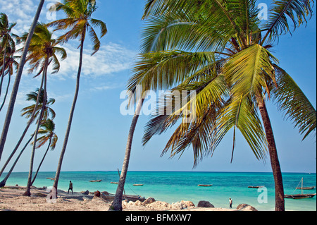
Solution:
{"label": "reddish-brown trunk of the large palm on the right", "polygon": [[266,140],[268,141],[268,152],[271,159],[271,167],[274,176],[275,183],[275,211],[285,211],[284,203],[284,188],[282,181],[282,172],[280,170],[280,162],[278,161],[278,151],[276,150],[275,139],[273,135],[273,129],[271,121],[268,116],[266,104],[261,98],[259,101],[259,110],[261,113],[264,128],[266,130]]}

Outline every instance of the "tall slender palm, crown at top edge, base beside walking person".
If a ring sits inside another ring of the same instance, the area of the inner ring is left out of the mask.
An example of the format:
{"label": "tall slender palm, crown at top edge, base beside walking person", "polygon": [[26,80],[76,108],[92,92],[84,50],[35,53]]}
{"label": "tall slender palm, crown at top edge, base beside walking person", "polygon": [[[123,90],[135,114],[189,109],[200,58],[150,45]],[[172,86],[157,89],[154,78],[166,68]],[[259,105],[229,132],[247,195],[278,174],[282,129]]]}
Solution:
{"label": "tall slender palm, crown at top edge, base beside walking person", "polygon": [[73,104],[70,109],[70,116],[68,119],[68,126],[66,130],[66,135],[63,141],[63,147],[61,150],[61,156],[58,161],[58,167],[56,170],[56,176],[54,181],[54,188],[57,190],[58,186],[58,178],[59,174],[61,173],[61,166],[63,162],[63,157],[66,152],[66,147],[68,143],[68,138],[70,134],[70,128],[73,121],[73,114],[75,111],[75,105],[77,102],[78,92],[79,92],[79,86],[80,86],[80,74],[82,71],[82,57],[83,57],[83,50],[84,50],[84,42],[86,33],[89,33],[89,36],[92,39],[92,42],[94,44],[93,47],[93,54],[95,54],[99,48],[100,48],[100,41],[98,39],[98,36],[96,32],[94,31],[94,28],[100,28],[101,29],[101,37],[104,37],[106,35],[107,29],[106,24],[102,22],[101,20],[97,20],[92,18],[92,13],[96,11],[96,1],[94,0],[64,0],[63,3],[57,3],[54,7],[54,10],[60,11],[62,10],[64,13],[66,13],[67,18],[56,20],[54,22],[49,23],[49,26],[56,26],[56,30],[68,30],[65,35],[62,35],[58,39],[61,42],[68,42],[69,39],[76,39],[79,37],[80,39],[80,59],[79,59],[79,66],[78,66],[78,72],[77,72],[77,78],[76,78],[76,87],[75,87],[75,95],[73,99]]}

